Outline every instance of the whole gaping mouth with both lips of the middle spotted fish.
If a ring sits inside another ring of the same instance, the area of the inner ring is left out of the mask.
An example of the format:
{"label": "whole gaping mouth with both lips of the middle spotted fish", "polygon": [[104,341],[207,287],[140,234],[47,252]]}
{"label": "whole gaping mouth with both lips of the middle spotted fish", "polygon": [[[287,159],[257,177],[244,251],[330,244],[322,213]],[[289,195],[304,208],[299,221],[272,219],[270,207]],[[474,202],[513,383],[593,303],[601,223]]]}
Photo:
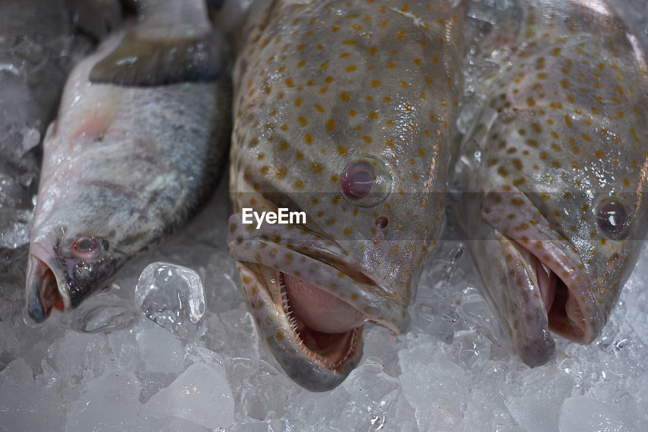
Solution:
{"label": "whole gaping mouth with both lips of the middle spotted fish", "polygon": [[[298,230],[278,238],[229,221],[227,245],[253,316],[284,372],[312,391],[343,381],[362,356],[365,321],[402,333],[406,307],[344,261],[334,242]],[[342,252],[343,253],[343,252]]]}

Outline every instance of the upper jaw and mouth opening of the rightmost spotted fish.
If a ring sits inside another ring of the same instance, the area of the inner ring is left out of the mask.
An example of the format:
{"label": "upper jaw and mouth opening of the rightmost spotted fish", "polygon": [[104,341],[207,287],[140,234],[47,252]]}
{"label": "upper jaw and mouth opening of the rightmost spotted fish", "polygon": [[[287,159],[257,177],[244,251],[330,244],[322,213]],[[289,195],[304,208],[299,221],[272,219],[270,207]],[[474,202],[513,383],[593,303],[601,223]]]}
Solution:
{"label": "upper jaw and mouth opening of the rightmost spotted fish", "polygon": [[594,281],[582,270],[573,246],[519,191],[487,193],[481,217],[502,239],[516,245],[526,267],[535,267],[535,278],[530,282],[537,290],[550,330],[580,344],[594,341],[605,325],[605,315],[594,295]]}

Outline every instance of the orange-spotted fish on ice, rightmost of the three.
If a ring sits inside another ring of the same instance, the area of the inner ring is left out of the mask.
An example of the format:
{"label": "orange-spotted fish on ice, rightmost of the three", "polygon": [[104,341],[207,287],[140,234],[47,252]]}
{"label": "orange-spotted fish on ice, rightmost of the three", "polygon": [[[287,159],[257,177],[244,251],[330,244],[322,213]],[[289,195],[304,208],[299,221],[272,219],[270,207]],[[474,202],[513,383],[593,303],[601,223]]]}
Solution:
{"label": "orange-spotted fish on ice, rightmost of the three", "polygon": [[645,240],[648,78],[605,3],[522,7],[456,165],[456,214],[485,297],[537,366],[555,357],[550,331],[599,335]]}

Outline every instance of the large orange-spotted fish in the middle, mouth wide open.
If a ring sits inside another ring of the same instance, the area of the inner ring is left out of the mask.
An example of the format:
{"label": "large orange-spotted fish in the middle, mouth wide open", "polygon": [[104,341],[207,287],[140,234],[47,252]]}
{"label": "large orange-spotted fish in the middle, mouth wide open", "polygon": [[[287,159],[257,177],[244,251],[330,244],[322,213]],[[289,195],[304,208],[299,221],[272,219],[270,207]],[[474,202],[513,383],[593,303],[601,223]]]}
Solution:
{"label": "large orange-spotted fish in the middle, mouth wide open", "polygon": [[[464,4],[275,1],[238,54],[227,244],[277,363],[313,391],[400,334],[443,226]],[[242,209],[304,211],[242,223]]]}

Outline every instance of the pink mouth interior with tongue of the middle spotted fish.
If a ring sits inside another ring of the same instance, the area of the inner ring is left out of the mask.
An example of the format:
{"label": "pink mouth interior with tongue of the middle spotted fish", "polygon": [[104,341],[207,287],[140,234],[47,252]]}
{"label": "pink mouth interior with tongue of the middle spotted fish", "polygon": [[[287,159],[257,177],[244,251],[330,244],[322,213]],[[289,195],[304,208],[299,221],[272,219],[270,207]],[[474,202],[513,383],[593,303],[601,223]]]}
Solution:
{"label": "pink mouth interior with tongue of the middle spotted fish", "polygon": [[[364,322],[362,313],[358,312],[353,317],[343,317],[344,322],[336,322],[335,319],[327,322],[324,315],[315,317],[311,315],[313,309],[318,307],[317,304],[304,304],[297,299],[297,294],[307,289],[310,290],[308,300],[314,300],[314,303],[328,303],[329,306],[342,308],[346,306],[349,309],[353,307],[332,294],[283,272],[279,272],[279,286],[283,312],[290,323],[299,350],[308,359],[330,370],[336,370],[344,365],[347,359],[353,357],[362,336],[362,322]],[[349,310],[345,309],[345,312]],[[349,330],[340,331],[349,326],[351,326]]]}

